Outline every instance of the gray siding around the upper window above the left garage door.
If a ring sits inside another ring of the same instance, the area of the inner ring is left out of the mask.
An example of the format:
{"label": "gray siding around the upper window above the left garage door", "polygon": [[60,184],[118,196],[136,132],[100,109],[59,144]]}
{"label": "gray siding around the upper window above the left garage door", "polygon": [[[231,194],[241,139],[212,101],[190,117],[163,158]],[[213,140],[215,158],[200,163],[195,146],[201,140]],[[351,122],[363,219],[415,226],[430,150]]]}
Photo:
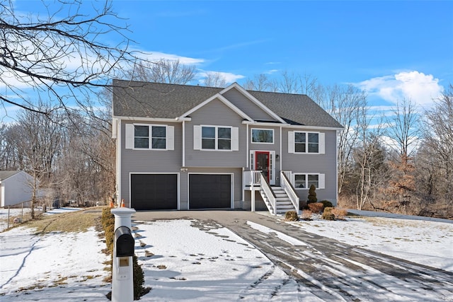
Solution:
{"label": "gray siding around the upper window above the left garage door", "polygon": [[[175,127],[174,150],[125,149],[125,124],[162,124]],[[130,173],[180,173],[182,166],[182,124],[134,121],[121,123],[121,195],[130,204]]]}

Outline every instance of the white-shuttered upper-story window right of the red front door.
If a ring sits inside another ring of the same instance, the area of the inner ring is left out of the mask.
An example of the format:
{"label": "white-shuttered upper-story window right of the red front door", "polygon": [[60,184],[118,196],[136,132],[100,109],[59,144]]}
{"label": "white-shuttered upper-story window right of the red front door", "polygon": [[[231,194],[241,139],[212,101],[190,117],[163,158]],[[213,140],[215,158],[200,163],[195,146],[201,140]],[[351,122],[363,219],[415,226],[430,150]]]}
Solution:
{"label": "white-shuttered upper-story window right of the red front door", "polygon": [[323,154],[324,138],[320,132],[288,132],[288,152]]}

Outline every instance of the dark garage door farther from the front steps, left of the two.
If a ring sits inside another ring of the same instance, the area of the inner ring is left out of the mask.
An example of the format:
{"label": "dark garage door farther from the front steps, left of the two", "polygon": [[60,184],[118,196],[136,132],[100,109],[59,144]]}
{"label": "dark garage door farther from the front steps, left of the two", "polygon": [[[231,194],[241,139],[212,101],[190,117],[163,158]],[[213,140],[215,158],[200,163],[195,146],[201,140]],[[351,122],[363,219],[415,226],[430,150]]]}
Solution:
{"label": "dark garage door farther from the front steps, left of the two", "polygon": [[130,188],[136,210],[178,209],[176,174],[132,174]]}

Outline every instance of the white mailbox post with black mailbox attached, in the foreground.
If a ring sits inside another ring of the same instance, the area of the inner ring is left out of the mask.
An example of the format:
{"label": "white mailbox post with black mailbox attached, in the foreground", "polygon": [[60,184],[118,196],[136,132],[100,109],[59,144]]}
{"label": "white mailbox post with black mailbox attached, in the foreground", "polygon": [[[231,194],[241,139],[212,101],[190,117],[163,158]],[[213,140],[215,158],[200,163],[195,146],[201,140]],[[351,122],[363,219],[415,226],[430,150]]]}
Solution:
{"label": "white mailbox post with black mailbox attached, in the foreground", "polygon": [[115,215],[115,243],[113,245],[112,264],[112,301],[134,301],[134,281],[132,256],[134,255],[134,237],[132,237],[131,217],[134,209],[117,208],[111,210]]}

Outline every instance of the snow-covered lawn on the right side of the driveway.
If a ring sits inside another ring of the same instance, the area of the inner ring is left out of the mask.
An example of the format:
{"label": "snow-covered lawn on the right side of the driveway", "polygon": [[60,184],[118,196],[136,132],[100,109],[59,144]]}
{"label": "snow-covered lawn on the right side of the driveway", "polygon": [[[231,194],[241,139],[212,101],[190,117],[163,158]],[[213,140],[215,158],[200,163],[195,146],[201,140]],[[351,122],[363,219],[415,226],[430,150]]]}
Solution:
{"label": "snow-covered lawn on the right side of the driveway", "polygon": [[292,224],[348,245],[453,272],[453,221],[372,211],[350,212],[362,216],[348,217],[346,221],[318,218]]}

